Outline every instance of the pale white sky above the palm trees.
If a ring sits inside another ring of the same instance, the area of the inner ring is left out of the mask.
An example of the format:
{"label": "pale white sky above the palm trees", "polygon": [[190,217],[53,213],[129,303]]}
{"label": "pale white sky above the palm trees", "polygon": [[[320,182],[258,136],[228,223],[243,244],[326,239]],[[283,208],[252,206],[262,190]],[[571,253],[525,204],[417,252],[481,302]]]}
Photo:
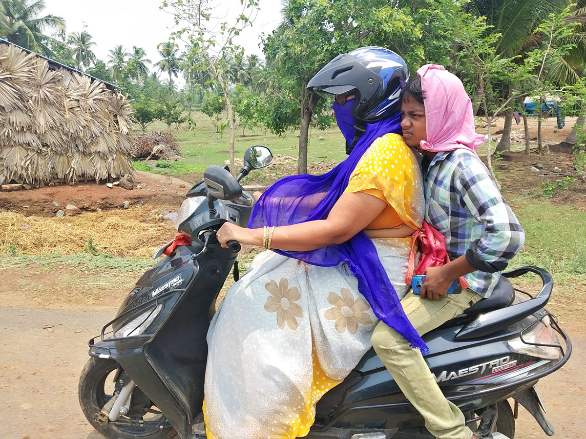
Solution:
{"label": "pale white sky above the palm trees", "polygon": [[[217,0],[217,16],[241,11],[239,0]],[[272,32],[281,22],[281,2],[260,0],[260,9],[251,28],[236,40],[246,54],[263,55],[258,47],[262,32]],[[162,0],[45,0],[45,14],[62,17],[67,33],[81,32],[84,25],[90,33],[98,59],[107,61],[109,51],[122,44],[127,52],[132,46],[145,49],[147,58],[156,63],[161,59],[156,46],[166,42],[175,28],[173,16],[161,11]],[[215,15],[215,14],[214,14]],[[152,68],[151,68],[152,71]]]}

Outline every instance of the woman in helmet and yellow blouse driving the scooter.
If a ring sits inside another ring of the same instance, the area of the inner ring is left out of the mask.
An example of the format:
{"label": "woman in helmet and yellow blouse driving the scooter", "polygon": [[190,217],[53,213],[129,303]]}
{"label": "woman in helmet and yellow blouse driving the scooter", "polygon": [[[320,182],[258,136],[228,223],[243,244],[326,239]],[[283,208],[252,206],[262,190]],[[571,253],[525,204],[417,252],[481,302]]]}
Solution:
{"label": "woman in helmet and yellow blouse driving the scooter", "polygon": [[248,228],[217,232],[271,251],[227,292],[208,333],[208,438],[295,438],[315,403],[370,348],[383,320],[423,352],[400,299],[410,235],[421,227],[417,156],[400,136],[405,62],[381,47],[333,59],[308,84],[335,96],[349,157],[323,176],[277,181]]}

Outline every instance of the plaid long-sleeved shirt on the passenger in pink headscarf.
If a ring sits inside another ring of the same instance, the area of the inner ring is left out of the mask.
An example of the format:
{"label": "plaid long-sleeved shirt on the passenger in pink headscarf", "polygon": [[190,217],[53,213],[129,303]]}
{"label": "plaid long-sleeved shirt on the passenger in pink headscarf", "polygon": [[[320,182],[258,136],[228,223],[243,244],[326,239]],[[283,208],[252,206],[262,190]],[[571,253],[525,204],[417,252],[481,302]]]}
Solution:
{"label": "plaid long-sleeved shirt on the passenger in pink headscarf", "polygon": [[470,289],[490,296],[523,246],[523,228],[475,153],[440,152],[431,162],[424,157],[423,169],[425,221],[445,236],[451,260],[465,254],[477,269],[465,276]]}

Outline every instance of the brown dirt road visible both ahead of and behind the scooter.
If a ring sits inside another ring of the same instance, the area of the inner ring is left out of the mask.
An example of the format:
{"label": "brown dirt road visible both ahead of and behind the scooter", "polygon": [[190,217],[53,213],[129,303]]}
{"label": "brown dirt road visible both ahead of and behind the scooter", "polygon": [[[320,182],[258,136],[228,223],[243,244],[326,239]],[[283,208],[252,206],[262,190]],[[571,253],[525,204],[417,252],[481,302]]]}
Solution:
{"label": "brown dirt road visible both ahead of and behind the scooter", "polygon": [[[2,439],[100,439],[81,413],[77,381],[87,361],[87,340],[114,316],[112,310],[0,306],[0,437]],[[573,340],[567,365],[539,383],[556,439],[586,432],[586,331],[563,325]],[[15,331],[18,328],[18,331]],[[547,436],[520,410],[516,439]]]}

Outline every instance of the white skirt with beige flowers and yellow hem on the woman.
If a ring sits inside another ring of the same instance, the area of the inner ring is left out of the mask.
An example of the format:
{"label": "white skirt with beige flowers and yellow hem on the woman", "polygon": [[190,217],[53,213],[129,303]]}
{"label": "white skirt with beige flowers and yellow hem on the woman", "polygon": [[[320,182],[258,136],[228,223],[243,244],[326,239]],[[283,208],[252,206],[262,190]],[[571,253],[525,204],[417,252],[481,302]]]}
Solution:
{"label": "white skirt with beige flowers and yellow hem on the woman", "polygon": [[[411,238],[373,242],[402,298]],[[207,334],[207,438],[308,434],[316,402],[370,349],[377,322],[345,264],[258,255],[227,291]]]}

